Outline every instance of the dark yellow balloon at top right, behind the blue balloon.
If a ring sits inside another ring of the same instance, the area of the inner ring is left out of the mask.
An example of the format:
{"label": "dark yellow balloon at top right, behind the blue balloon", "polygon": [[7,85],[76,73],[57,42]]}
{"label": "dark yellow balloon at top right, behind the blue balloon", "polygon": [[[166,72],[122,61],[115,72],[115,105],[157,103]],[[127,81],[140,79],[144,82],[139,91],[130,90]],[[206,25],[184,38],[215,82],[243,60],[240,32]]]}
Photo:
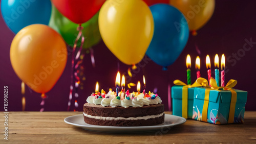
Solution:
{"label": "dark yellow balloon at top right, behind the blue balloon", "polygon": [[186,17],[190,31],[203,27],[215,9],[215,0],[171,0],[170,5],[179,9]]}

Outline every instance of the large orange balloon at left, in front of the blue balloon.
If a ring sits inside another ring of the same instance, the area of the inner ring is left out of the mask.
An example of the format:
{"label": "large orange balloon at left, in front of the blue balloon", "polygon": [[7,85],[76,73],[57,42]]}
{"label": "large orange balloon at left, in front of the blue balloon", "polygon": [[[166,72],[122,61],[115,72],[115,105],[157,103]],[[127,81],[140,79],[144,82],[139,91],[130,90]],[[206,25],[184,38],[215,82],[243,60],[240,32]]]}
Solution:
{"label": "large orange balloon at left, in front of the blue balloon", "polygon": [[30,25],[12,40],[10,58],[17,76],[31,89],[46,93],[52,89],[67,63],[62,37],[46,25]]}

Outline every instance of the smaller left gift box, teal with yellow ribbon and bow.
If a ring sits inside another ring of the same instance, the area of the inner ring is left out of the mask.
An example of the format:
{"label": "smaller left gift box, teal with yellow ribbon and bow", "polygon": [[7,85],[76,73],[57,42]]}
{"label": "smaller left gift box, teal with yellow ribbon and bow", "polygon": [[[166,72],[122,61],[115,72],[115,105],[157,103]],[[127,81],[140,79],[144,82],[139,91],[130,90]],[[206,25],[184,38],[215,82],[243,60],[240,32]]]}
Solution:
{"label": "smaller left gift box, teal with yellow ribbon and bow", "polygon": [[186,85],[180,80],[175,80],[174,84],[175,86],[172,87],[173,115],[192,118],[194,88],[201,85],[197,83]]}

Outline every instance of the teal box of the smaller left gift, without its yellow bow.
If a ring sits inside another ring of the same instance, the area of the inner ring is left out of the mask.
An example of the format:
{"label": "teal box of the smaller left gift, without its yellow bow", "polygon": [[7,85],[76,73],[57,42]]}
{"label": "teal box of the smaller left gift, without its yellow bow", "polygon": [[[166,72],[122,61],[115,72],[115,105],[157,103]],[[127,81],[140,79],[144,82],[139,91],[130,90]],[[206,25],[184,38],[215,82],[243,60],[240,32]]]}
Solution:
{"label": "teal box of the smaller left gift, without its yellow bow", "polygon": [[[184,118],[192,118],[193,115],[193,102],[194,102],[194,87],[187,88],[187,99],[182,99],[183,86],[175,85],[172,87],[172,102],[173,102],[173,115],[182,116]],[[184,101],[187,105],[184,106]],[[183,104],[182,104],[183,103]],[[184,113],[184,108],[185,113]],[[183,114],[182,114],[183,110]]]}

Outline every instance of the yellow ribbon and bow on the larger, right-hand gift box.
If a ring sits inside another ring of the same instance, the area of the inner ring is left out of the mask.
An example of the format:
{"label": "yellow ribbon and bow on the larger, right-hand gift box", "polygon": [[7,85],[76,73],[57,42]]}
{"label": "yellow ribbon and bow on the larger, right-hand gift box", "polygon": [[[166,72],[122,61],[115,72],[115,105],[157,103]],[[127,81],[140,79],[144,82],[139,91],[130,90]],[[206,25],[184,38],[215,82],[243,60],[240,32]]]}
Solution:
{"label": "yellow ribbon and bow on the larger, right-hand gift box", "polygon": [[203,111],[202,111],[202,121],[207,122],[207,112],[208,112],[208,105],[209,105],[209,95],[210,90],[229,90],[231,91],[231,101],[230,101],[230,107],[229,107],[229,115],[228,115],[228,124],[231,124],[234,122],[234,111],[236,110],[236,103],[237,103],[237,92],[234,91],[232,88],[236,86],[238,83],[237,80],[229,80],[227,85],[225,87],[218,86],[217,82],[214,78],[211,77],[210,79],[210,85],[208,85],[208,81],[204,78],[198,78],[196,82],[203,87],[206,87],[205,95],[204,95],[204,105],[203,105]]}

